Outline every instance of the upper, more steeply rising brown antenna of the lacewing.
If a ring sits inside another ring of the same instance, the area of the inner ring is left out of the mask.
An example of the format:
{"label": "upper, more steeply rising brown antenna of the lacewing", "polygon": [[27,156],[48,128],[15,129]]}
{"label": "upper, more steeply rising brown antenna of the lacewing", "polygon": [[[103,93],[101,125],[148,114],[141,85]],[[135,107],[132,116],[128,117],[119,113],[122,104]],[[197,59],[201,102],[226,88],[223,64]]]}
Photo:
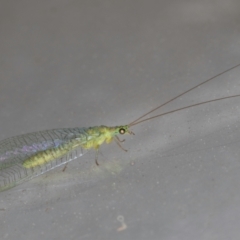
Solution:
{"label": "upper, more steeply rising brown antenna of the lacewing", "polygon": [[[204,82],[198,84],[197,86],[190,88],[189,90],[187,90],[187,91],[185,91],[185,92],[179,94],[178,96],[176,96],[176,97],[170,99],[169,101],[163,103],[162,105],[160,105],[160,106],[158,106],[158,107],[152,109],[151,111],[145,113],[145,114],[142,115],[141,117],[135,119],[133,122],[131,122],[131,123],[129,124],[129,126],[133,126],[133,125],[135,125],[135,124],[134,124],[135,122],[138,122],[140,119],[144,118],[144,117],[147,116],[148,114],[150,114],[150,113],[156,111],[157,109],[159,109],[159,108],[163,107],[164,105],[166,105],[166,104],[172,102],[173,100],[175,100],[175,99],[181,97],[182,95],[184,95],[184,94],[186,94],[186,93],[192,91],[193,89],[195,89],[195,88],[197,88],[197,87],[203,85],[204,83],[207,83],[207,82],[213,80],[214,78],[219,77],[219,76],[221,76],[222,74],[224,74],[224,73],[226,73],[226,72],[229,72],[229,71],[231,71],[231,70],[233,70],[234,68],[237,68],[237,67],[239,67],[239,66],[240,66],[240,64],[238,64],[238,65],[236,65],[236,66],[234,66],[234,67],[231,67],[231,68],[229,68],[228,70],[225,70],[225,71],[223,71],[223,72],[221,72],[221,73],[215,75],[214,77],[211,77],[211,78],[207,79],[206,81],[204,81]],[[219,100],[220,100],[220,99],[219,99]],[[161,116],[161,115],[160,115],[160,116]],[[138,122],[138,123],[139,123],[139,122]]]}

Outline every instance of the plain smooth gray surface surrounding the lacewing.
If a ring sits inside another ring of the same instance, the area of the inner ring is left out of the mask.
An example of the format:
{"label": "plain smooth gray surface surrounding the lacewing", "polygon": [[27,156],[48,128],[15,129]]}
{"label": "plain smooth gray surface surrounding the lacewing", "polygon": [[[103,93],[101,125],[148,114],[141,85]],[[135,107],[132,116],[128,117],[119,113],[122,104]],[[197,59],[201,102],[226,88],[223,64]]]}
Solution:
{"label": "plain smooth gray surface surrounding the lacewing", "polygon": [[[126,124],[240,63],[239,0],[9,1],[0,138]],[[160,112],[240,93],[240,68]],[[135,126],[0,193],[1,239],[238,239],[240,98]],[[125,229],[121,229],[124,218]]]}

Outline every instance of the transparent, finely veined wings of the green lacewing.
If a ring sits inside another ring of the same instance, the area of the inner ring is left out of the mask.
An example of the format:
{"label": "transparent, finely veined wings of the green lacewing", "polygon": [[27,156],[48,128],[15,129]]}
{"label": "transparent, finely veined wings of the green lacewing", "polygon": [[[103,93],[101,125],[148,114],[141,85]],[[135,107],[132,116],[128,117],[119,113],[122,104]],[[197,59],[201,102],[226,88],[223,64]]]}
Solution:
{"label": "transparent, finely veined wings of the green lacewing", "polygon": [[61,157],[40,166],[26,168],[24,161],[48,149],[58,149],[76,137],[82,137],[84,129],[53,129],[24,134],[0,141],[0,191],[14,187],[33,177],[84,155],[80,146],[69,148]]}

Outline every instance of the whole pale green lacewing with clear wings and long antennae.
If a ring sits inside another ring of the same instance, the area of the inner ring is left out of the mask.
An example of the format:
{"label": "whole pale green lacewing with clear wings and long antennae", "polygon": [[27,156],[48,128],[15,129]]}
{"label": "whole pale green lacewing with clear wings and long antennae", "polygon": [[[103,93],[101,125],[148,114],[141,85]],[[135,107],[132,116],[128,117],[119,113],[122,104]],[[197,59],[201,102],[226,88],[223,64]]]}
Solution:
{"label": "whole pale green lacewing with clear wings and long antennae", "polygon": [[110,143],[112,140],[115,140],[118,146],[125,150],[121,146],[122,141],[118,138],[118,135],[133,134],[129,128],[141,122],[189,107],[227,98],[239,97],[240,94],[213,99],[144,119],[145,116],[156,111],[167,103],[239,66],[240,64],[202,82],[201,84],[198,84],[127,125],[115,127],[96,126],[89,128],[52,129],[15,136],[0,141],[0,191],[14,187],[17,184],[70,162],[73,159],[82,156],[84,150],[96,150],[95,161],[98,165],[97,153],[99,147],[104,142]]}

